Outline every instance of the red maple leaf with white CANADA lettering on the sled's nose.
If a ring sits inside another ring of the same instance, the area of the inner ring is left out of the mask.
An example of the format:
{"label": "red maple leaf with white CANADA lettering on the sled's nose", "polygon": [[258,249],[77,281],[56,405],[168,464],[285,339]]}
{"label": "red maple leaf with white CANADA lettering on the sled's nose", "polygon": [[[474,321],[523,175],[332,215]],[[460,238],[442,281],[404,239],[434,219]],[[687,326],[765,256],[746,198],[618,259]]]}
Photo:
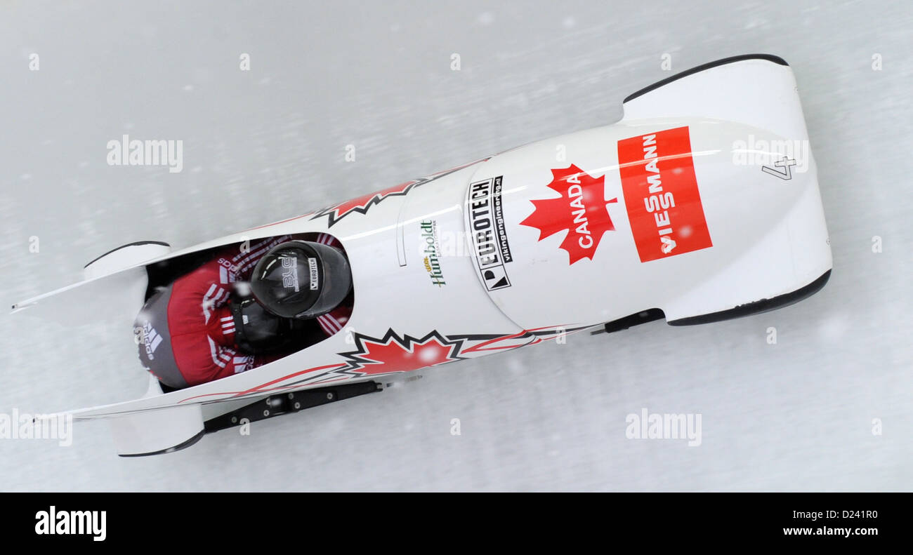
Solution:
{"label": "red maple leaf with white CANADA lettering on the sled's nose", "polygon": [[603,234],[615,229],[607,203],[618,199],[605,200],[604,175],[593,177],[573,164],[551,170],[551,175],[549,188],[561,196],[530,201],[535,210],[520,225],[539,229],[540,241],[567,231],[561,248],[568,252],[570,264],[582,258],[593,260]]}

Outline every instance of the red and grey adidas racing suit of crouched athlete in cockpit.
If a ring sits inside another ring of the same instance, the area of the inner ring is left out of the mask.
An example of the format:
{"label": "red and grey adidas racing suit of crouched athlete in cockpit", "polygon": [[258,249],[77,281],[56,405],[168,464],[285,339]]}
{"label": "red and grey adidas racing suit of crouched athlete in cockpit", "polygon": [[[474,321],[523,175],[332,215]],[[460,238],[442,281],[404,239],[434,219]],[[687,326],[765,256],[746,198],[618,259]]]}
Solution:
{"label": "red and grey adidas racing suit of crouched athlete in cockpit", "polygon": [[[290,239],[291,236],[262,239],[250,244],[246,252],[227,248],[150,298],[137,318],[137,327],[143,329],[140,341],[143,365],[166,385],[181,388],[225,378],[281,358],[281,355],[255,356],[237,350],[235,320],[228,299],[234,282],[250,278],[257,261],[269,249]],[[316,240],[339,245],[326,234],[320,234]],[[330,336],[342,330],[351,313],[351,306],[341,306],[317,321],[323,333]]]}

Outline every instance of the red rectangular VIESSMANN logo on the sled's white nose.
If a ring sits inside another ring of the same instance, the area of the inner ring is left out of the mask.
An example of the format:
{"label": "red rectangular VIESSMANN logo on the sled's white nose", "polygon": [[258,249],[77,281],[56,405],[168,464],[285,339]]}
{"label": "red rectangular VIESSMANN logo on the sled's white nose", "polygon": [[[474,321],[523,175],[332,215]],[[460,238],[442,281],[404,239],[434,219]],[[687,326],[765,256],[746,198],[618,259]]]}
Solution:
{"label": "red rectangular VIESSMANN logo on the sled's white nose", "polygon": [[687,127],[618,141],[618,163],[641,262],[713,246]]}

